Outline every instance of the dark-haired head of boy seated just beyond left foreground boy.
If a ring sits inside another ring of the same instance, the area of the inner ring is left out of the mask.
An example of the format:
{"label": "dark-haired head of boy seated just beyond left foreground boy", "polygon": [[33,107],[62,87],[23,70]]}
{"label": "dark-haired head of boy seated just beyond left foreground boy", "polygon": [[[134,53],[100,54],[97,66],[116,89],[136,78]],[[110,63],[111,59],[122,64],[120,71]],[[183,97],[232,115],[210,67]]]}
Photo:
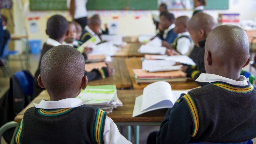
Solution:
{"label": "dark-haired head of boy seated just beyond left foreground boy", "polygon": [[51,16],[46,25],[46,32],[50,38],[58,40],[62,38],[68,30],[68,21],[61,15]]}

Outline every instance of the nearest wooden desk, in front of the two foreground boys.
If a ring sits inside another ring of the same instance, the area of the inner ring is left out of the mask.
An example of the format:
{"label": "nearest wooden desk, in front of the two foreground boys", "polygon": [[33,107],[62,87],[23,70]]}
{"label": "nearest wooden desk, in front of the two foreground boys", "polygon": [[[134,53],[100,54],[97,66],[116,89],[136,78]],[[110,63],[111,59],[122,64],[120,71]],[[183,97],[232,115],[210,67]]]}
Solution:
{"label": "nearest wooden desk, in front of the two foreground boys", "polygon": [[[123,106],[117,107],[108,116],[118,125],[159,125],[163,120],[167,109],[147,112],[137,117],[132,117],[135,98],[143,94],[143,90],[117,90],[118,98],[123,102]],[[42,99],[50,100],[46,90],[42,91],[25,109],[23,109],[14,119],[20,122],[25,111],[33,107],[33,103],[39,103]],[[150,124],[151,123],[151,124]]]}

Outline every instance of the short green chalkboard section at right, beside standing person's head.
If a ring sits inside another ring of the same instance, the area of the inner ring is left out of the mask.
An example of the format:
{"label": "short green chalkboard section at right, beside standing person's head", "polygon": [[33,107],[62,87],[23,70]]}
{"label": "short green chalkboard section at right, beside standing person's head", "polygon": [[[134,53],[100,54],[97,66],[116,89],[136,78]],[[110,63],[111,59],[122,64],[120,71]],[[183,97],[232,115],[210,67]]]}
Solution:
{"label": "short green chalkboard section at right, beside standing person's head", "polygon": [[205,9],[228,9],[229,0],[206,0],[207,6]]}

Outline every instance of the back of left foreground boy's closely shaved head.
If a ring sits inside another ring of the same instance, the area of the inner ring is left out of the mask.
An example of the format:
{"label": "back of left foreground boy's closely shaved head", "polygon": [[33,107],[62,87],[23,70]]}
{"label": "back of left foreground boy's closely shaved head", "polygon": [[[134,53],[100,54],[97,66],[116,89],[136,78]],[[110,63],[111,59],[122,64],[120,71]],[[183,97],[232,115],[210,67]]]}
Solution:
{"label": "back of left foreground boy's closely shaved head", "polygon": [[75,48],[59,45],[44,54],[40,68],[41,80],[46,90],[59,94],[80,88],[85,61]]}

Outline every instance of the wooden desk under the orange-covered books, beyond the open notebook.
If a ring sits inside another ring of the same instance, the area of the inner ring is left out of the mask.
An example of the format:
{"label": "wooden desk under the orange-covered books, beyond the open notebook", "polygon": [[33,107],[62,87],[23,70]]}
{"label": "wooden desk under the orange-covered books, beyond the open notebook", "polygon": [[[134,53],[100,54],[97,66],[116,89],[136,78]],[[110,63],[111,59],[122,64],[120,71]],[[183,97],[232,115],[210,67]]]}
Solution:
{"label": "wooden desk under the orange-covered books, beyond the open notebook", "polygon": [[[134,89],[143,89],[147,85],[149,85],[149,84],[137,84],[135,81],[135,78],[133,77],[132,69],[141,69],[142,68],[141,58],[126,58],[125,63],[127,65],[127,69],[129,71]],[[185,83],[170,83],[170,84],[172,86],[172,89],[176,89],[176,90],[192,89],[192,88],[198,87],[198,84],[191,80],[188,80]]]}

